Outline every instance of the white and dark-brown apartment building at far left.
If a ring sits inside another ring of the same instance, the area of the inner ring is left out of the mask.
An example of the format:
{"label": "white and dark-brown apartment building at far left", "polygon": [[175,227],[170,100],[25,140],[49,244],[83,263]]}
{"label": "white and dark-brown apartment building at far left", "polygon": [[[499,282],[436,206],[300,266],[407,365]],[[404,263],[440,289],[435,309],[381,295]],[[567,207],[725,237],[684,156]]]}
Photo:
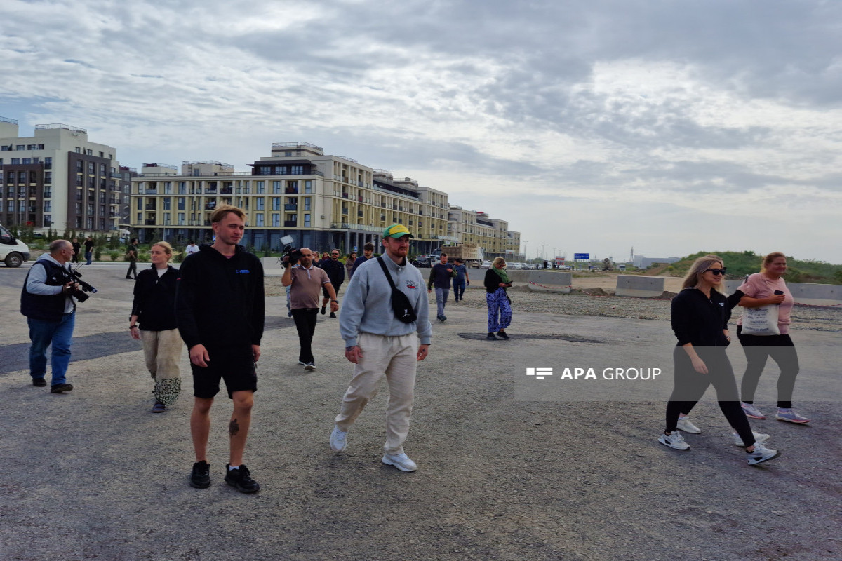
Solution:
{"label": "white and dark-brown apartment building at far left", "polygon": [[132,170],[115,154],[78,127],[36,124],[24,137],[17,120],[0,117],[0,222],[36,231],[118,230]]}

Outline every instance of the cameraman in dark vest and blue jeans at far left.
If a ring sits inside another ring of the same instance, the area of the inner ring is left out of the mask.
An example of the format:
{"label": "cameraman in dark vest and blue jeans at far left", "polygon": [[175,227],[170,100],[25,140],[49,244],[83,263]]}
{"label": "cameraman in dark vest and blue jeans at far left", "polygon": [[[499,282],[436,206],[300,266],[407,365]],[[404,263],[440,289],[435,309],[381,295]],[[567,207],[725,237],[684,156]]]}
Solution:
{"label": "cameraman in dark vest and blue jeans at far left", "polygon": [[76,324],[76,304],[72,294],[79,293],[79,285],[70,276],[66,263],[73,258],[73,246],[67,240],[55,240],[50,253],[38,258],[26,275],[20,294],[20,313],[29,325],[29,375],[32,385],[44,387],[47,357],[52,345],[52,380],[54,394],[69,392],[65,374],[70,364],[70,346]]}

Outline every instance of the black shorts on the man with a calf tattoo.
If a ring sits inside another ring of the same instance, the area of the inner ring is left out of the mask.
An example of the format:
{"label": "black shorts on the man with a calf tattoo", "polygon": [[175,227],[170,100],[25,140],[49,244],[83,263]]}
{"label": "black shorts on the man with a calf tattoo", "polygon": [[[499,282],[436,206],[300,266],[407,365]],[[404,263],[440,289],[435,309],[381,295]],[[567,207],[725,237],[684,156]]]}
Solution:
{"label": "black shorts on the man with a calf tattoo", "polygon": [[193,394],[208,400],[219,393],[219,381],[225,380],[228,399],[237,391],[257,391],[258,374],[254,368],[252,347],[248,349],[208,349],[207,367],[190,363],[193,369]]}

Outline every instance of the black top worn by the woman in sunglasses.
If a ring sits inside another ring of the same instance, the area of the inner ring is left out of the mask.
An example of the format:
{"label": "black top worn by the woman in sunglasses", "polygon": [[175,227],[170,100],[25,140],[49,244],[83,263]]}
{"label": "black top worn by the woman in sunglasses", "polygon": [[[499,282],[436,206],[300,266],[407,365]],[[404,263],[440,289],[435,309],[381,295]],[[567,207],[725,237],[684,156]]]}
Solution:
{"label": "black top worn by the woman in sunglasses", "polygon": [[742,297],[739,290],[726,297],[711,289],[710,299],[698,288],[679,292],[672,301],[670,315],[673,332],[679,340],[676,347],[687,343],[693,347],[727,347],[728,340],[722,330],[727,329],[731,310]]}

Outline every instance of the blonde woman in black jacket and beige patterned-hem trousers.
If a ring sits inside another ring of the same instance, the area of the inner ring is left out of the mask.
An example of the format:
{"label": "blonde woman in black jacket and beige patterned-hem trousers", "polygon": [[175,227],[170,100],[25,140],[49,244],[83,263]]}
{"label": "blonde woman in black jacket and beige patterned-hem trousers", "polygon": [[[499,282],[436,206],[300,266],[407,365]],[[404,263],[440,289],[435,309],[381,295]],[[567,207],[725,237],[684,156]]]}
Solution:
{"label": "blonde woman in black jacket and beige patterned-hem trousers", "polygon": [[152,267],[144,269],[135,281],[129,332],[143,341],[147,370],[155,380],[152,413],[163,413],[175,404],[181,392],[179,355],[184,348],[175,319],[175,285],[179,269],[171,266],[173,247],[158,241],[149,250]]}

